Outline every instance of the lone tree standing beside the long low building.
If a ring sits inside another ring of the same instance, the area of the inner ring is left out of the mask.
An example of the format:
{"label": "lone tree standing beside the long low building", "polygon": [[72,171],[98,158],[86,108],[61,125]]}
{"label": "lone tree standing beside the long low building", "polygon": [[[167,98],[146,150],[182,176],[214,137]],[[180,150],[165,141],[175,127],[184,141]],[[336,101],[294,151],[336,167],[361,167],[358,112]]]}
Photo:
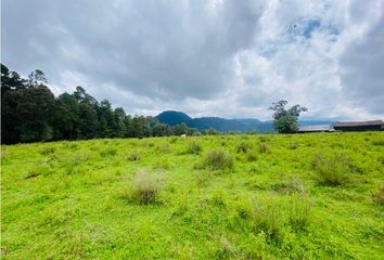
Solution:
{"label": "lone tree standing beside the long low building", "polygon": [[273,128],[279,133],[294,133],[298,130],[298,116],[302,112],[306,112],[307,108],[300,105],[294,105],[290,109],[285,106],[287,101],[281,100],[277,103],[272,103],[269,109],[274,110],[273,114]]}

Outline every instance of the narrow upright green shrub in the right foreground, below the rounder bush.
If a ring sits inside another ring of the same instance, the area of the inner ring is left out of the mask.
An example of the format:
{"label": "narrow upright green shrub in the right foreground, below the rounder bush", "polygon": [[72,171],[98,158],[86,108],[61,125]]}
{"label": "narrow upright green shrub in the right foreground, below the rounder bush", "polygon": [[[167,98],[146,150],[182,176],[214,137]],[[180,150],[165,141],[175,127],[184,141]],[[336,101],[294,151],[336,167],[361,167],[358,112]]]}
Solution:
{"label": "narrow upright green shrub in the right foreground, below the rounder bush", "polygon": [[298,195],[291,200],[290,223],[297,230],[306,229],[311,221],[311,203],[308,198],[302,198]]}

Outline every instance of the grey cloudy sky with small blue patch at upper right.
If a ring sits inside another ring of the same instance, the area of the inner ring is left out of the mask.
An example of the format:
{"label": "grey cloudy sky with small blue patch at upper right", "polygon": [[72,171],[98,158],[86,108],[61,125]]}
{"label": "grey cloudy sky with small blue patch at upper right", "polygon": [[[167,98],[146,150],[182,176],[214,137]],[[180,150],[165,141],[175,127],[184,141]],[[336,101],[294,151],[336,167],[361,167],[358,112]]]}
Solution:
{"label": "grey cloudy sky with small blue patch at upper right", "polygon": [[1,61],[128,114],[384,119],[384,0],[2,0]]}

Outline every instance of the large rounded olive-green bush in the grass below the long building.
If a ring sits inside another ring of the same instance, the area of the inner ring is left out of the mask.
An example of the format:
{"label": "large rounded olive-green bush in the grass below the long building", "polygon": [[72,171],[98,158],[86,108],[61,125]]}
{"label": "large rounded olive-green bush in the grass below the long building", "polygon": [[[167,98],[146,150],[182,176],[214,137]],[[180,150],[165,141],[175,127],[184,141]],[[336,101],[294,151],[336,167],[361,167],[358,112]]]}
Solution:
{"label": "large rounded olive-green bush in the grass below the long building", "polygon": [[331,186],[344,185],[350,181],[353,165],[343,154],[317,155],[312,164],[319,182]]}

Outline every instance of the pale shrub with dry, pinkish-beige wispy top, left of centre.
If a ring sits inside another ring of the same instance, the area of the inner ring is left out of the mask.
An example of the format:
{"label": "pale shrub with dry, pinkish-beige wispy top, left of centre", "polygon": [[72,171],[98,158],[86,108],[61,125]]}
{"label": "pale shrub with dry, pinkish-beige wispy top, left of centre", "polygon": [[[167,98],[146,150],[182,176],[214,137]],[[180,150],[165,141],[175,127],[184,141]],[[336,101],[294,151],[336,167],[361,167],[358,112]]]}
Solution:
{"label": "pale shrub with dry, pinkish-beige wispy top, left of centre", "polygon": [[146,171],[138,171],[132,180],[133,193],[132,197],[138,203],[148,205],[155,203],[163,187],[162,180]]}

